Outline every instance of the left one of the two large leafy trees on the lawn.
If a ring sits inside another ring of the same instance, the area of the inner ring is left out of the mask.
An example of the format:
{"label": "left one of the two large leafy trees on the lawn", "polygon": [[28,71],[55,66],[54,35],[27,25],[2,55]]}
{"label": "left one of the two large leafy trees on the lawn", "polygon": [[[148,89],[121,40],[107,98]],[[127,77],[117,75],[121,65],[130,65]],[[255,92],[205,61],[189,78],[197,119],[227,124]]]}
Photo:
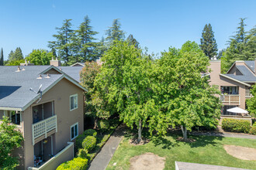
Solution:
{"label": "left one of the two large leafy trees on the lawn", "polygon": [[128,127],[133,128],[136,124],[140,142],[142,128],[154,131],[151,124],[158,118],[150,88],[152,62],[141,56],[140,49],[116,40],[104,53],[102,62],[95,88],[99,90],[101,99],[107,102],[109,110],[119,113]]}

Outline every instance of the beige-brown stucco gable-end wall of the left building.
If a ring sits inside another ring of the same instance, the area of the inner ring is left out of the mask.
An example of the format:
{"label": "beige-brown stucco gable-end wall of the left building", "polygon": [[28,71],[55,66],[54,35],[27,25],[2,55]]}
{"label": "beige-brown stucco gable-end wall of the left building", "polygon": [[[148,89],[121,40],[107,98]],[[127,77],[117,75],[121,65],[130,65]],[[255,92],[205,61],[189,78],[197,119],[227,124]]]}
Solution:
{"label": "beige-brown stucco gable-end wall of the left building", "polygon": [[[78,94],[78,109],[70,111],[70,96]],[[63,79],[43,94],[42,100],[38,104],[54,101],[54,114],[57,115],[57,133],[55,134],[54,155],[71,141],[71,125],[78,122],[78,134],[84,130],[84,100],[83,90],[70,81]],[[32,104],[23,114],[24,122],[24,157],[25,168],[33,166],[33,144],[32,144],[32,124],[33,114]]]}

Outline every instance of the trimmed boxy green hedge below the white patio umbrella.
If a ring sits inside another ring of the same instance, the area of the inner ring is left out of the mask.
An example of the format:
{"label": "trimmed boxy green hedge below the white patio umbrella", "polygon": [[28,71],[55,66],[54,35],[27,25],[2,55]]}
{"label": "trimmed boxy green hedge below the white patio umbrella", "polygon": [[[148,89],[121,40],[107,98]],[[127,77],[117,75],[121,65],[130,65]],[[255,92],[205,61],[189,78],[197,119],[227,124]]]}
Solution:
{"label": "trimmed boxy green hedge below the white patio umbrella", "polygon": [[251,122],[225,118],[222,121],[222,128],[226,131],[236,131],[248,133],[251,129]]}

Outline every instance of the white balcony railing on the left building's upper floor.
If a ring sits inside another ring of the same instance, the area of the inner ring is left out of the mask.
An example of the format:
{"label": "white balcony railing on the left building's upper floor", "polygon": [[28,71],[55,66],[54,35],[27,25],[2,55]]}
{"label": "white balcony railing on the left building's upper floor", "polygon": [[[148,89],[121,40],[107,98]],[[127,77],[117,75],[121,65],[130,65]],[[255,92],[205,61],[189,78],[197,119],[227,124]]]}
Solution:
{"label": "white balcony railing on the left building's upper floor", "polygon": [[47,132],[56,129],[57,131],[57,115],[44,119],[43,121],[39,121],[36,124],[32,124],[32,140],[33,145],[35,145],[35,139],[45,135],[47,138]]}

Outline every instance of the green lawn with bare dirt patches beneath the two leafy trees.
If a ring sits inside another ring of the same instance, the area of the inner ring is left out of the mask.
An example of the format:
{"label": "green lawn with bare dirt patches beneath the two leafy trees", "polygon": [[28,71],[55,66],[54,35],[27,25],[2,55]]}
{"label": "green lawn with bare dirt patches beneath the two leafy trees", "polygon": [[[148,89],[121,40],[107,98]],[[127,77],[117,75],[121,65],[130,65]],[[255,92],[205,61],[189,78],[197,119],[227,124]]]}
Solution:
{"label": "green lawn with bare dirt patches beneath the two leafy trees", "polygon": [[[192,137],[196,141],[185,143],[176,141],[178,135],[171,134],[161,140],[151,140],[146,145],[130,145],[125,137],[113,155],[106,169],[129,169],[130,158],[145,152],[152,152],[165,158],[164,169],[175,169],[175,161],[223,165],[237,168],[256,169],[256,161],[244,161],[228,155],[223,145],[239,145],[256,148],[256,140],[244,138]],[[116,166],[113,164],[116,162]]]}

